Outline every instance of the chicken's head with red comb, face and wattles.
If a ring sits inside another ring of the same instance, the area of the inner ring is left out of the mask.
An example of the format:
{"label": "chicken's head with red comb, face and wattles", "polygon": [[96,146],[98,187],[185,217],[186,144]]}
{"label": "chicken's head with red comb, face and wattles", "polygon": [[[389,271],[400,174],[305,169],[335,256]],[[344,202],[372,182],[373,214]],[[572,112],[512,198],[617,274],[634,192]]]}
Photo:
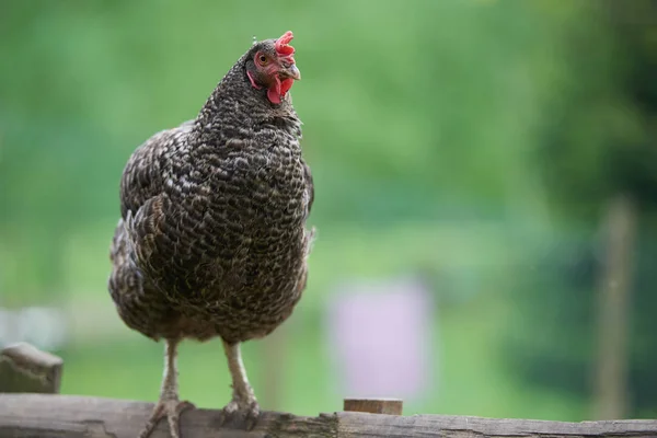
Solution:
{"label": "chicken's head with red comb, face and wattles", "polygon": [[255,43],[246,55],[246,78],[256,90],[266,89],[267,99],[279,104],[301,73],[295,64],[290,31],[278,39]]}

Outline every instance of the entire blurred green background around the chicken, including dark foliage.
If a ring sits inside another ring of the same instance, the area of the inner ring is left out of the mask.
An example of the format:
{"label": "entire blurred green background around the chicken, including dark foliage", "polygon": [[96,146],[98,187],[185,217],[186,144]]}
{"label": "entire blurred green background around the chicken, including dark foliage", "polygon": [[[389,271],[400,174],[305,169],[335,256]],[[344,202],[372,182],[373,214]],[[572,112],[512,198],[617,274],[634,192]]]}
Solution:
{"label": "entire blurred green background around the chicken, including dark foliage", "polygon": [[[123,166],[287,30],[319,239],[293,316],[244,347],[263,407],[341,410],[327,300],[413,275],[436,344],[406,413],[655,416],[652,0],[3,1],[0,342],[46,339],[64,393],[157,399],[163,347],[106,291]],[[228,401],[217,341],[180,370],[183,397]]]}

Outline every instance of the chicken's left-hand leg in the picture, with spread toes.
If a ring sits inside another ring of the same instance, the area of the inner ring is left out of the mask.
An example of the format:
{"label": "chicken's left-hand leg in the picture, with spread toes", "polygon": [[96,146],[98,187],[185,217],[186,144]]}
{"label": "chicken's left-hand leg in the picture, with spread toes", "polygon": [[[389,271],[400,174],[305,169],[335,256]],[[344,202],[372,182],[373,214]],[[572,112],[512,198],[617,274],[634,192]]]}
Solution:
{"label": "chicken's left-hand leg in the picture, with spread toes", "polygon": [[146,427],[139,434],[139,438],[147,438],[158,425],[161,418],[169,420],[169,430],[172,438],[181,438],[180,416],[181,412],[188,407],[194,407],[189,402],[178,400],[177,390],[177,369],[175,365],[176,347],[178,339],[166,339],[164,346],[164,377],[162,379],[162,389],[160,390],[160,400],[155,404]]}

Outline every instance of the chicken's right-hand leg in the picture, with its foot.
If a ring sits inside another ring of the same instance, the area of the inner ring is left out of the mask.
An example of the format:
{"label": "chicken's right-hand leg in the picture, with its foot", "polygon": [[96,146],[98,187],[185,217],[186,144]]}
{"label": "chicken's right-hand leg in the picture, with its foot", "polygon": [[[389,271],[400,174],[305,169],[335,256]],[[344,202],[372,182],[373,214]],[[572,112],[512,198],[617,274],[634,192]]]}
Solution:
{"label": "chicken's right-hand leg in the picture, with its foot", "polygon": [[223,407],[224,419],[233,415],[241,416],[246,422],[246,428],[252,429],[260,415],[260,406],[253,388],[246,378],[240,344],[229,344],[223,341],[223,353],[228,359],[228,369],[232,378],[233,395],[229,404]]}

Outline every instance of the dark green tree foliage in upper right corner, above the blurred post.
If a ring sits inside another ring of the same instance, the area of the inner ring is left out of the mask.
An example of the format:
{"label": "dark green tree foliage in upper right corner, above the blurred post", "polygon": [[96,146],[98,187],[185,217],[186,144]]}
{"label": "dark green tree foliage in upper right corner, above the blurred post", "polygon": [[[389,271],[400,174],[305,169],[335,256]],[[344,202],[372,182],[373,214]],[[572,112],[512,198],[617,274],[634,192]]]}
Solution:
{"label": "dark green tree foliage in upper right corner, above the blurred post", "polygon": [[538,161],[566,215],[597,220],[610,196],[625,193],[655,207],[657,162],[656,3],[591,3],[564,34],[557,95],[548,102]]}

